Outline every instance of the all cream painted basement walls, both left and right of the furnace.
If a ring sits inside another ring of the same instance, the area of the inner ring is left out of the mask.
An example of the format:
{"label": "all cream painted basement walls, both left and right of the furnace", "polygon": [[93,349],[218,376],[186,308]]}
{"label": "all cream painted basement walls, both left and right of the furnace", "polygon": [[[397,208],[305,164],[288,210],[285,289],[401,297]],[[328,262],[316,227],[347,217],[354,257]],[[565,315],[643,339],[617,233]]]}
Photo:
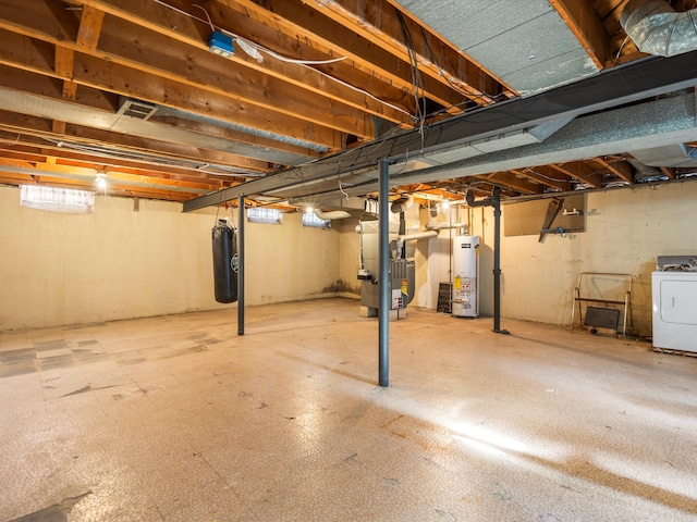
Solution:
{"label": "all cream painted basement walls, both left and right of the furnace", "polygon": [[[690,181],[589,192],[586,232],[541,244],[536,235],[502,237],[503,318],[570,324],[578,273],[622,272],[634,276],[634,332],[650,335],[650,274],[657,256],[697,252],[695,201]],[[94,214],[56,214],[21,208],[19,189],[0,187],[0,328],[225,307],[212,295],[215,217],[212,209],[184,214],[178,203],[149,200],[134,212],[131,199],[101,197]],[[480,311],[490,315],[491,209],[421,210],[418,217],[421,229],[452,221],[480,236]],[[305,228],[299,214],[285,214],[283,225],[247,223],[246,302],[356,297],[356,224]],[[450,238],[442,231],[417,241],[412,306],[436,309],[438,285],[450,279]]]}

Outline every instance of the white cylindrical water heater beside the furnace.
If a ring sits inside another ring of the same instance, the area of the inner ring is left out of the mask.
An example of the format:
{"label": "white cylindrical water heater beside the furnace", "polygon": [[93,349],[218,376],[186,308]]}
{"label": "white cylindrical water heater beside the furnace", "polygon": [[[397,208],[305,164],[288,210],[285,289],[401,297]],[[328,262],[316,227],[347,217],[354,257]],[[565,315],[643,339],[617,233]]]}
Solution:
{"label": "white cylindrical water heater beside the furnace", "polygon": [[479,237],[453,239],[453,306],[456,318],[479,315]]}

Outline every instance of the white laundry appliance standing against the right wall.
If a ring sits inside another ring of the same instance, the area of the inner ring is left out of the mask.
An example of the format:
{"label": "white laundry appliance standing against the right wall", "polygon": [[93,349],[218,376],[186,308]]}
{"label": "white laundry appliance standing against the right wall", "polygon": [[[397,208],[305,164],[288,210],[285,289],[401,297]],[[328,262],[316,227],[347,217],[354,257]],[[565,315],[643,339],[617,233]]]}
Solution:
{"label": "white laundry appliance standing against the right wall", "polygon": [[697,272],[651,273],[653,348],[697,352]]}

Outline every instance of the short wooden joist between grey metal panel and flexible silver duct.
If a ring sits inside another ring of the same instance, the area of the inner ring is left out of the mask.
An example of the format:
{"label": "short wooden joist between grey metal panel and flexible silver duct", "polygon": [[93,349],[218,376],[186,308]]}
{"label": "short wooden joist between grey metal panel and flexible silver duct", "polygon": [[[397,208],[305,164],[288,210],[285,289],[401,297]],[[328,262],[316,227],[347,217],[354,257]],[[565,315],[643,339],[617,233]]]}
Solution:
{"label": "short wooden joist between grey metal panel and flexible silver duct", "polygon": [[611,58],[608,33],[590,0],[549,0],[599,70]]}

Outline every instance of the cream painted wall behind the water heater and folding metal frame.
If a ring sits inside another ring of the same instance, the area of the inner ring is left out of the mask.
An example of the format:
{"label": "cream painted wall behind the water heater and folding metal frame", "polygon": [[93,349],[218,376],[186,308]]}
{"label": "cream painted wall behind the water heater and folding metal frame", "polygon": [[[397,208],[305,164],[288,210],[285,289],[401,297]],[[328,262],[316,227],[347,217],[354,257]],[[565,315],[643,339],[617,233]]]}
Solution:
{"label": "cream painted wall behind the water heater and folding metal frame", "polygon": [[[696,201],[697,183],[693,181],[596,191],[587,194],[586,232],[548,235],[543,243],[537,235],[505,237],[502,232],[502,316],[568,325],[573,288],[580,272],[628,273],[633,276],[633,332],[650,335],[656,258],[697,253]],[[472,234],[481,238],[480,310],[482,315],[491,315],[493,213],[491,208],[477,208],[463,217],[470,224]],[[444,248],[437,241],[441,239],[431,239],[428,247],[423,247],[417,268],[416,304],[429,309],[435,308],[438,281],[448,278],[441,259]],[[431,257],[425,263],[427,251]]]}

